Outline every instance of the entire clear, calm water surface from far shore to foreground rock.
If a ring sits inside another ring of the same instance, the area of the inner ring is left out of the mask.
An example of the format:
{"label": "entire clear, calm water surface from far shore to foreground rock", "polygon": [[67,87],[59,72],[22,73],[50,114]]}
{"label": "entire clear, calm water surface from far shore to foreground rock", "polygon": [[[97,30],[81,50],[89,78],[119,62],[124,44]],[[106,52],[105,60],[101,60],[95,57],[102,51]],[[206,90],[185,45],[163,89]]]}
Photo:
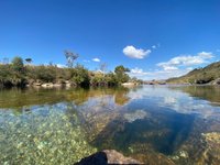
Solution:
{"label": "entire clear, calm water surface from far shore to foreground rock", "polygon": [[195,164],[210,132],[220,133],[220,87],[0,90],[6,165],[67,165],[105,148],[144,163]]}

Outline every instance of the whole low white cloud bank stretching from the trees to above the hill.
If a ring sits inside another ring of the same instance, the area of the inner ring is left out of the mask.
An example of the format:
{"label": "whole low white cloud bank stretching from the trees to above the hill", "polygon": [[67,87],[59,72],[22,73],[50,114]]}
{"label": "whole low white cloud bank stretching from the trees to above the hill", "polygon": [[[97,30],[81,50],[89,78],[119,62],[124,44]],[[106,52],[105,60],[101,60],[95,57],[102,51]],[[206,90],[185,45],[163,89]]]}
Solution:
{"label": "whole low white cloud bank stretching from the trees to above the hill", "polygon": [[170,58],[168,62],[158,63],[157,66],[160,68],[151,72],[144,72],[135,67],[131,69],[130,75],[145,80],[179,77],[198,67],[198,65],[210,63],[210,59],[213,57],[215,55],[211,52],[200,52],[196,55],[179,55]]}

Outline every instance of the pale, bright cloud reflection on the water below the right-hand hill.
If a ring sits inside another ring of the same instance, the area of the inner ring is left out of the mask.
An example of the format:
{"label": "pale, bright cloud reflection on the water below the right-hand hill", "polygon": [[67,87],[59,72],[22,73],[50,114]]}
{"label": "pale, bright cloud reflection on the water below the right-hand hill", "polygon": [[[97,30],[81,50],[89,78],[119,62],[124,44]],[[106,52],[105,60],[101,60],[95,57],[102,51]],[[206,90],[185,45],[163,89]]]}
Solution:
{"label": "pale, bright cloud reflection on the water below the right-hand hill", "polygon": [[154,103],[157,108],[169,108],[180,113],[198,113],[209,117],[219,113],[220,107],[212,107],[209,101],[196,99],[180,90],[174,90],[166,86],[144,86],[135,91],[130,91],[131,100]]}

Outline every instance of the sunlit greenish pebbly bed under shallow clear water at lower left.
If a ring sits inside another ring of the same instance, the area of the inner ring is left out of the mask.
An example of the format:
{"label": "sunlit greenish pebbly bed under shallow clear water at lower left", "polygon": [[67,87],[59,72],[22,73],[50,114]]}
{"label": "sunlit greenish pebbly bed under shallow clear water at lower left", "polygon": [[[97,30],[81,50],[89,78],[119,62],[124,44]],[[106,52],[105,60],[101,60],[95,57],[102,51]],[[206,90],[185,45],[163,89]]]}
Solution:
{"label": "sunlit greenish pebbly bed under shallow clear water at lower left", "polygon": [[43,106],[32,113],[0,114],[0,164],[72,164],[96,152],[76,111],[67,105]]}

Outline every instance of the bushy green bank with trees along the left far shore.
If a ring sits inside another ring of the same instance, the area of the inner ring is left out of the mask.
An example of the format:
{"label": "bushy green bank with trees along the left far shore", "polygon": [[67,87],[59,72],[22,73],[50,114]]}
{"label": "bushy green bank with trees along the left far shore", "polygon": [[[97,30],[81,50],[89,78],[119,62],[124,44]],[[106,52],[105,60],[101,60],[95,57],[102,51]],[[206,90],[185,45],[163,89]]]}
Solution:
{"label": "bushy green bank with trees along the left far shore", "polygon": [[89,86],[118,86],[127,81],[140,82],[136,78],[130,78],[129,68],[120,65],[114,72],[105,73],[90,72],[82,65],[77,64],[73,67],[74,61],[77,58],[74,54],[66,54],[68,67],[57,67],[56,65],[31,65],[32,59],[24,61],[21,57],[14,57],[11,63],[0,64],[0,86],[34,86],[42,84],[69,85],[77,87]]}

